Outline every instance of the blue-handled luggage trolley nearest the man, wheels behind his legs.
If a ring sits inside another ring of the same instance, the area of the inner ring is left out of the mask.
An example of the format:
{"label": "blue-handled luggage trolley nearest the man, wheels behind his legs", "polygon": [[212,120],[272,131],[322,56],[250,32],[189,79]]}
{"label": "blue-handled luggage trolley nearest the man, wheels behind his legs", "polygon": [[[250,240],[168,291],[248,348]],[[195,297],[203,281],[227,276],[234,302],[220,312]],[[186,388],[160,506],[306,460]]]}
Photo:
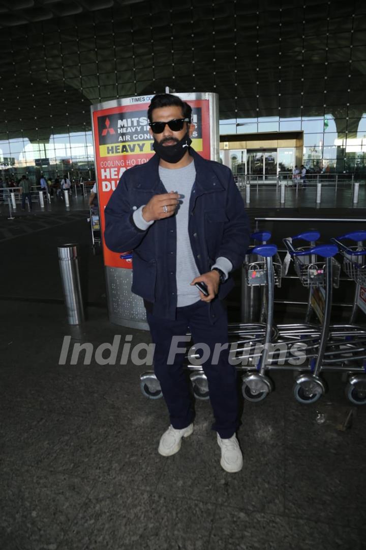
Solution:
{"label": "blue-handled luggage trolley nearest the man, wheels behind his legs", "polygon": [[[282,274],[277,246],[272,244],[252,246],[245,257],[244,269],[247,284],[266,287],[266,323],[229,324],[228,335],[229,343],[236,344],[235,359],[238,361],[245,359],[253,365],[250,372],[243,376],[243,395],[248,400],[260,401],[273,389],[273,384],[265,371],[268,344],[278,337],[278,331],[273,326],[274,285],[280,286]],[[254,346],[254,353],[249,356],[246,354],[248,346],[250,350]],[[194,345],[190,349],[192,352],[185,357],[185,367],[193,371],[190,380],[194,395],[198,399],[209,399],[206,375],[201,366],[192,364],[192,359],[199,359],[199,355],[195,353]],[[241,367],[239,368],[241,370]],[[256,368],[255,372],[253,368]],[[152,371],[140,375],[140,388],[150,399],[162,397],[159,381]]]}

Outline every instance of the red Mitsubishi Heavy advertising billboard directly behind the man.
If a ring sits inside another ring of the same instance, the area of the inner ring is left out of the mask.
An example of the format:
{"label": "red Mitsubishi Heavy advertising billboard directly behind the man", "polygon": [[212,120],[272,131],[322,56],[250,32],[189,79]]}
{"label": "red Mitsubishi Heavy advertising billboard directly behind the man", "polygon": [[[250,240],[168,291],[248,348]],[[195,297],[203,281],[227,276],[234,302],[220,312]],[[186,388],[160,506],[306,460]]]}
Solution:
{"label": "red Mitsubishi Heavy advertising billboard directly behind the man", "polygon": [[[192,107],[195,124],[192,147],[202,157],[219,161],[217,94],[177,92],[175,95]],[[147,118],[152,97],[127,97],[91,106],[109,318],[123,326],[143,329],[148,328],[143,300],[131,293],[133,265],[130,251],[120,254],[109,250],[103,234],[104,209],[123,172],[148,162],[155,154]]]}

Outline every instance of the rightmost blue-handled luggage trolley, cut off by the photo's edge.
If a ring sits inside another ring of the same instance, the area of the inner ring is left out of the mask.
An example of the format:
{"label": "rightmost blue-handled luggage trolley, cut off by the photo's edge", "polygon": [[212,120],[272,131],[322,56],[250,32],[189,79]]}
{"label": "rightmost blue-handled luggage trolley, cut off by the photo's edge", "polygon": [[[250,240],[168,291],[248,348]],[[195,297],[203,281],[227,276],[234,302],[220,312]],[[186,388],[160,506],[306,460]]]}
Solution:
{"label": "rightmost blue-handled luggage trolley, cut off by the photo's edge", "polygon": [[[366,231],[347,233],[331,240],[343,256],[343,270],[355,283],[350,324],[334,327],[334,339],[339,339],[340,344],[338,353],[331,360],[341,362],[342,368],[351,375],[345,388],[347,398],[355,405],[365,405],[366,328],[357,326],[354,322],[359,309],[366,313]],[[346,246],[345,240],[350,240],[353,244]]]}

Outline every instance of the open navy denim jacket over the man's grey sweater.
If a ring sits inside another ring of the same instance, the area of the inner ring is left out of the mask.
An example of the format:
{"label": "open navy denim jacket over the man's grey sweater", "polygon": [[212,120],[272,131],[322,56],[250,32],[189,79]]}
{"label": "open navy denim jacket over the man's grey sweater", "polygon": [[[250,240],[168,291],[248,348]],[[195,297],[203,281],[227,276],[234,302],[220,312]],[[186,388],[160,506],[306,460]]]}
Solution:
{"label": "open navy denim jacket over the man's grey sweater", "polygon": [[[188,232],[199,272],[210,271],[219,256],[241,266],[249,244],[249,220],[232,172],[207,161],[192,148],[196,179],[189,202]],[[176,218],[155,221],[147,230],[133,222],[133,212],[153,195],[168,193],[159,178],[159,157],[129,168],[105,208],[105,244],[115,252],[133,250],[132,292],[142,296],[154,315],[174,319],[177,305]],[[179,191],[179,190],[178,190]],[[209,307],[210,322],[222,312],[219,303],[232,289],[229,276]]]}

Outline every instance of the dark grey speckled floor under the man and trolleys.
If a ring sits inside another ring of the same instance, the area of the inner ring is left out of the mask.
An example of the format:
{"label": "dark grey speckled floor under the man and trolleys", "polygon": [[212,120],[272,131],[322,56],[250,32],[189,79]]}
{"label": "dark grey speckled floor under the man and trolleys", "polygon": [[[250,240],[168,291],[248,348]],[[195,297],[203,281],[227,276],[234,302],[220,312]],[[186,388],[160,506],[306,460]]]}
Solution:
{"label": "dark grey speckled floor under the man and trolleys", "polygon": [[[269,212],[260,206],[252,219]],[[94,356],[71,365],[70,354],[59,365],[65,335],[94,350],[115,334],[121,348],[127,334],[149,342],[108,321],[85,204],[13,221],[1,211],[1,550],[366,548],[366,407],[337,429],[351,408],[340,375],[326,376],[329,392],[313,405],[294,400],[283,372],[266,400],[243,403],[239,474],[219,465],[209,401],[196,402],[194,434],[163,458],[168,417],[164,401],[140,392],[146,367]],[[289,231],[275,227],[277,237]],[[58,273],[57,245],[70,240],[81,245],[89,304],[80,327],[66,323]]]}

